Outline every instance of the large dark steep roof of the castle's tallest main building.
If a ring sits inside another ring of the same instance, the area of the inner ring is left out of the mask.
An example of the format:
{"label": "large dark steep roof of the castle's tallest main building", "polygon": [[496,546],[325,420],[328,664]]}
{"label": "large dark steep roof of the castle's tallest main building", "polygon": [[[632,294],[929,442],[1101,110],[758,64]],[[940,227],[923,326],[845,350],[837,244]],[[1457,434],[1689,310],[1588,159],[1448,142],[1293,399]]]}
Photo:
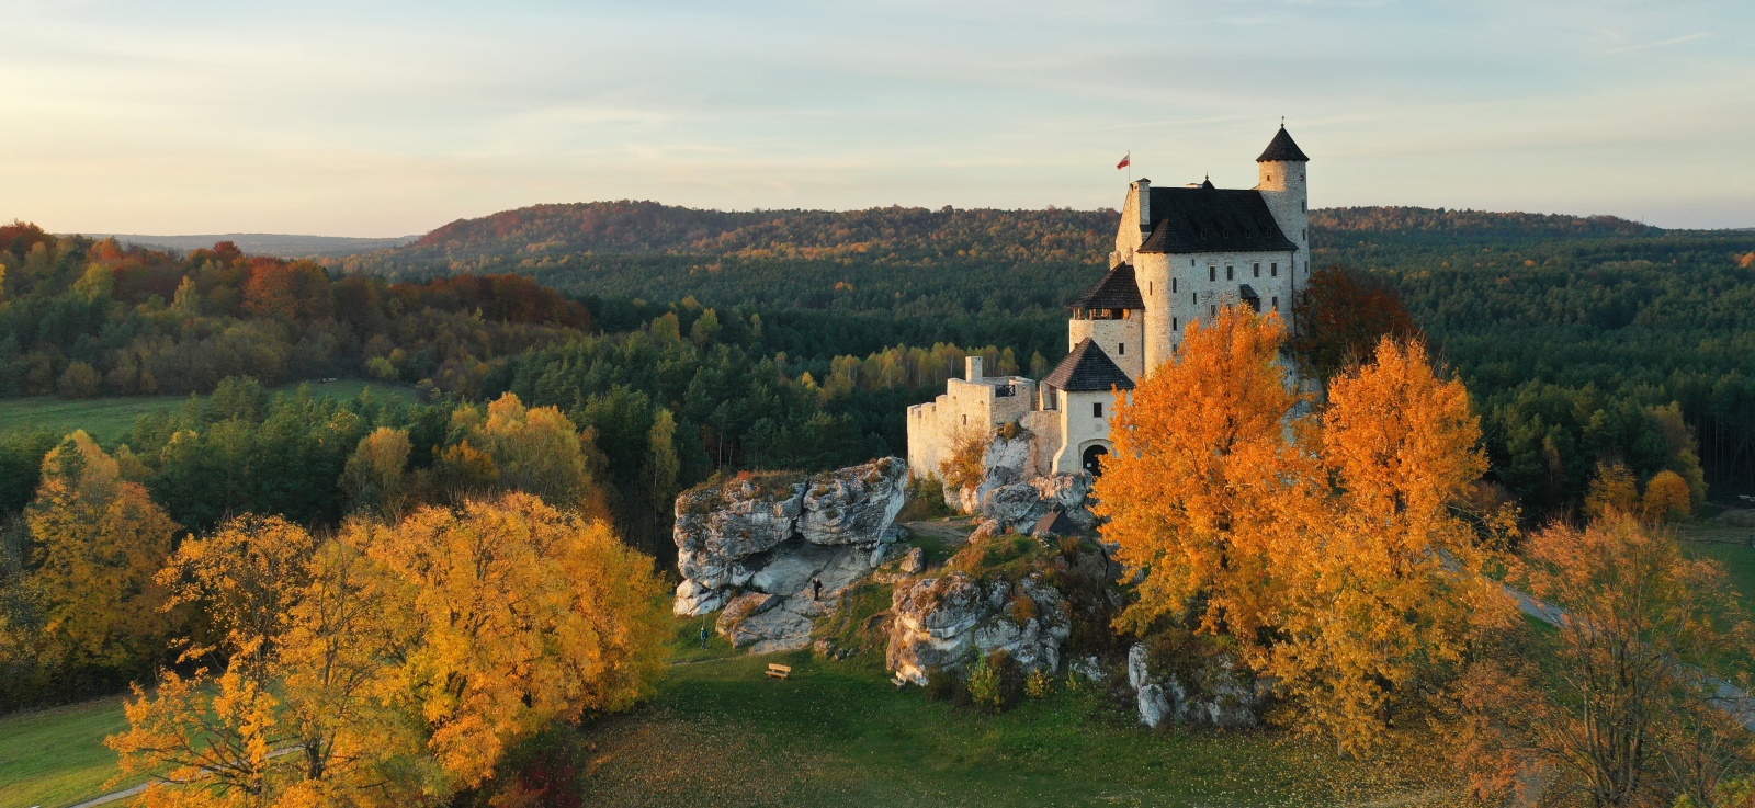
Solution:
{"label": "large dark steep roof of the castle's tallest main building", "polygon": [[1153,188],[1151,233],[1139,252],[1267,252],[1297,249],[1260,191]]}

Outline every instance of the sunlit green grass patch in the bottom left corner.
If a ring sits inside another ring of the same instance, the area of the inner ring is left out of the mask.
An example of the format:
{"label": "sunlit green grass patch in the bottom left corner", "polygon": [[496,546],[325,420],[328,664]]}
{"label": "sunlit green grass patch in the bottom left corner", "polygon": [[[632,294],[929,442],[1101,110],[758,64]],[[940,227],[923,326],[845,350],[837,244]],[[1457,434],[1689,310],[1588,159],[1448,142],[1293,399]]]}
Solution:
{"label": "sunlit green grass patch in the bottom left corner", "polygon": [[86,701],[0,719],[0,806],[58,808],[114,790],[105,782],[116,775],[116,754],[104,745],[104,736],[128,729],[121,701]]}

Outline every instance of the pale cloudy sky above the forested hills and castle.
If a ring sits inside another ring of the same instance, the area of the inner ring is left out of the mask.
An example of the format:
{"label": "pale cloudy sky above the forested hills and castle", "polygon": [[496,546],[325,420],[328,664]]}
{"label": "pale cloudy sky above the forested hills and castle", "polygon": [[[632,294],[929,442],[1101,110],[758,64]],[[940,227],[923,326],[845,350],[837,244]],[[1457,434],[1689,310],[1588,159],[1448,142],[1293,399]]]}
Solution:
{"label": "pale cloudy sky above the forested hills and castle", "polygon": [[1750,0],[0,0],[0,221],[397,237],[544,202],[1755,226]]}

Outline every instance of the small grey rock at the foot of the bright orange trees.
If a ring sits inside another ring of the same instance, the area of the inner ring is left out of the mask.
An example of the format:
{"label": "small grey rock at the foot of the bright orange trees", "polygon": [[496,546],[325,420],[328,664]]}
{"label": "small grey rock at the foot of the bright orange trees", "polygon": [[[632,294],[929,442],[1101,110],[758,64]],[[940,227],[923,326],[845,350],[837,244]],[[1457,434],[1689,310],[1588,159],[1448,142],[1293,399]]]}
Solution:
{"label": "small grey rock at the foot of the bright orange trees", "polygon": [[1127,684],[1134,687],[1139,722],[1209,724],[1227,729],[1260,724],[1262,692],[1228,656],[1204,659],[1183,675],[1155,675],[1144,645],[1127,650]]}

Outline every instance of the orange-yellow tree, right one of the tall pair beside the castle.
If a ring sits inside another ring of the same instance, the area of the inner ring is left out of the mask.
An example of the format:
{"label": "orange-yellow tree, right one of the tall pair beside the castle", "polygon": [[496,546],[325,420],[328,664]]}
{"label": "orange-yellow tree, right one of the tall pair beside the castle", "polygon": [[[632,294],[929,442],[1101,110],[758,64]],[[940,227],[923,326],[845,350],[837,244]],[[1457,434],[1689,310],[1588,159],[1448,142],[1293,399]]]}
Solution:
{"label": "orange-yellow tree, right one of the tall pair beside the castle", "polygon": [[1474,526],[1453,512],[1486,471],[1479,442],[1469,393],[1418,342],[1385,338],[1330,382],[1309,442],[1327,486],[1297,510],[1318,515],[1300,540],[1271,549],[1285,584],[1262,670],[1346,752],[1369,750],[1416,682],[1441,682],[1478,627],[1508,617]]}

